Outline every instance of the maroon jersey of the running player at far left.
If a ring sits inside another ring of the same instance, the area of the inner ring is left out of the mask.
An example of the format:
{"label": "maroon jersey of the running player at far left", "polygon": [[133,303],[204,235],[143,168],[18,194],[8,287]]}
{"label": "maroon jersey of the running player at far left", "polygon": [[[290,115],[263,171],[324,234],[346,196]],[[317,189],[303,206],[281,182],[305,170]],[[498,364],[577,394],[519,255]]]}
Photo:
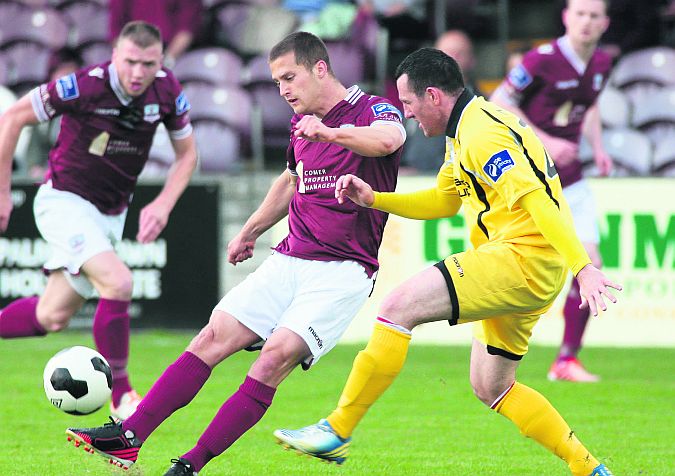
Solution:
{"label": "maroon jersey of the running player at far left", "polygon": [[166,69],[135,98],[124,92],[110,62],[42,84],[30,98],[40,121],[63,115],[47,179],[108,215],[129,205],[160,122],[174,139],[192,133],[190,104]]}

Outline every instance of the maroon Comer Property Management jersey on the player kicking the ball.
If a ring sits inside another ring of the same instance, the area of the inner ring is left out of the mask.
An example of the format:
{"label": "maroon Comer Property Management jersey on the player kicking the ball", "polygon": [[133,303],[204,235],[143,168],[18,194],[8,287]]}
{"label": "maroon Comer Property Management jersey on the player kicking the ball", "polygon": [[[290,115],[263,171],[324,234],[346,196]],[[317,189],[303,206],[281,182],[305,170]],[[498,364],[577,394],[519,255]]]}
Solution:
{"label": "maroon Comer Property Management jersey on the player kicking the ball", "polygon": [[[291,119],[294,126],[301,118]],[[405,135],[402,115],[387,99],[369,96],[357,86],[347,91],[322,122],[328,127],[393,124]],[[292,130],[294,127],[291,128]],[[291,134],[288,169],[297,175],[296,192],[288,210],[289,233],[277,245],[280,253],[320,261],[353,260],[368,276],[377,271],[377,250],[388,214],[335,198],[335,181],[354,174],[374,190],[393,192],[402,148],[385,157],[363,157],[340,145],[310,142]]]}

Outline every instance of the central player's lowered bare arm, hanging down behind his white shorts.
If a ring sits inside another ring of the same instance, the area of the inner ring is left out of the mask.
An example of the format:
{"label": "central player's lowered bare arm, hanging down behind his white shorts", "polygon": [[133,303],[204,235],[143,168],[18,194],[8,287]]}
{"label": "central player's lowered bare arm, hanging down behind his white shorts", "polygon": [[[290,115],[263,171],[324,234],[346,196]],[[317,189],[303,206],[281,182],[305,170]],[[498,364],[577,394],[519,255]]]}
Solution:
{"label": "central player's lowered bare arm, hanging down behind his white shorts", "polygon": [[227,261],[236,265],[253,256],[256,240],[288,215],[297,176],[285,170],[272,184],[258,209],[227,245]]}

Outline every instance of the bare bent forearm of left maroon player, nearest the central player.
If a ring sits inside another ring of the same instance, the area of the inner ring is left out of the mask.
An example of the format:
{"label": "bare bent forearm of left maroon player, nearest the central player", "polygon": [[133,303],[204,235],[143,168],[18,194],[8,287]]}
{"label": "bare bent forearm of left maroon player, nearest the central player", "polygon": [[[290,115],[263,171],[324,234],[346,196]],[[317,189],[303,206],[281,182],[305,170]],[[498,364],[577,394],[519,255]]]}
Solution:
{"label": "bare bent forearm of left maroon player, nearest the central player", "polygon": [[171,210],[188,186],[197,166],[197,147],[193,134],[181,139],[171,139],[171,144],[176,160],[169,169],[164,187],[159,195],[141,210],[136,235],[136,239],[141,243],[153,241],[162,232],[169,221]]}

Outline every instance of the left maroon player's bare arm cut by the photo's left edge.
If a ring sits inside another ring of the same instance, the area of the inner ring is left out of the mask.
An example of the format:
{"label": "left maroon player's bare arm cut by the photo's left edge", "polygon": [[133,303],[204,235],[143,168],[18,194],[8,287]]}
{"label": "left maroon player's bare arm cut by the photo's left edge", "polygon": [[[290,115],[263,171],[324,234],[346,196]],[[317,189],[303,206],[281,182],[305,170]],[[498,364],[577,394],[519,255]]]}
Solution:
{"label": "left maroon player's bare arm cut by the photo's left edge", "polygon": [[12,212],[12,158],[19,134],[25,126],[38,122],[29,95],[0,116],[0,233],[7,229]]}

